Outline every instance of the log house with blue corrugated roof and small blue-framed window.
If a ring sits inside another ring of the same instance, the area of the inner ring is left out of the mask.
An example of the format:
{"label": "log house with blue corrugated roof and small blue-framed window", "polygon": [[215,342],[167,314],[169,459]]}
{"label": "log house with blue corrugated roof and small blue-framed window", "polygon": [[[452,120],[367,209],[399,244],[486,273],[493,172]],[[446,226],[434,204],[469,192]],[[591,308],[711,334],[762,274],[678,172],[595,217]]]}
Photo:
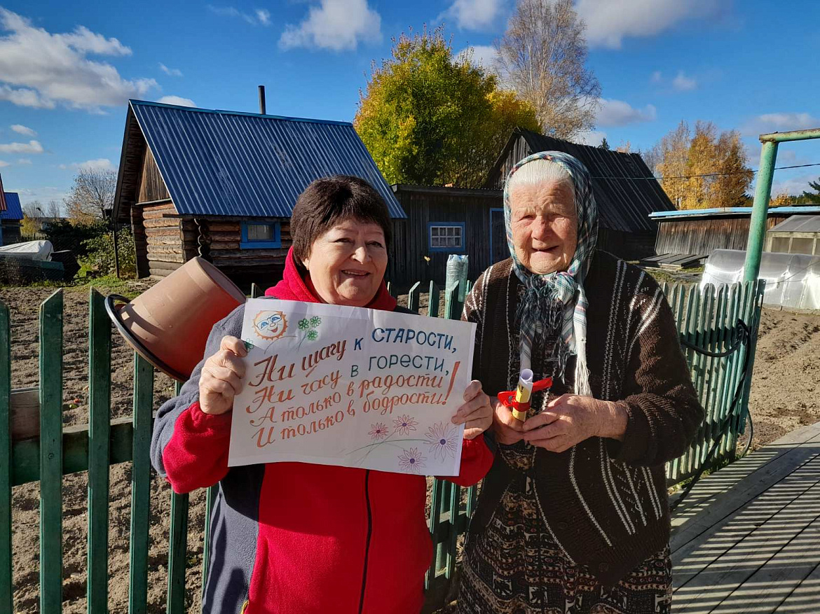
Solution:
{"label": "log house with blue corrugated roof and small blue-framed window", "polygon": [[353,124],[132,100],[113,216],[130,224],[141,278],[201,255],[242,287],[270,283],[298,195],[332,174],[366,179],[405,217]]}

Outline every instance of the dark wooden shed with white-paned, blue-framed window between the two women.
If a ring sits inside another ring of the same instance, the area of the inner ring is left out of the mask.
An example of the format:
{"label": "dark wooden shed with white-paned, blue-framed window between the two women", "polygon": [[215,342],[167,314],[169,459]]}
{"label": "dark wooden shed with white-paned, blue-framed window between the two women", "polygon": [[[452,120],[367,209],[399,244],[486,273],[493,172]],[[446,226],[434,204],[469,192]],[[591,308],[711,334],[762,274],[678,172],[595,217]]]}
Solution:
{"label": "dark wooden shed with white-paned, blue-framed window between the two women", "polygon": [[393,192],[407,219],[394,219],[385,278],[400,291],[419,281],[443,286],[450,254],[469,256],[470,279],[508,257],[499,190],[399,183]]}

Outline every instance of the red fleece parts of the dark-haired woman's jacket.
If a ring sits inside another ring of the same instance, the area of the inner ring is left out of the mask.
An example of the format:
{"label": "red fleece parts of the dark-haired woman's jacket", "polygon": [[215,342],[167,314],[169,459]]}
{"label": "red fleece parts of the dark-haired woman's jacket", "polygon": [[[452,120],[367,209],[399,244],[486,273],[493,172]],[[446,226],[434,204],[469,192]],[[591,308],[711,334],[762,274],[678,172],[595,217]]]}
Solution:
{"label": "red fleece parts of the dark-haired woman's jacket", "polygon": [[[298,274],[292,253],[285,277],[266,295],[319,302]],[[368,306],[395,305],[382,284]],[[208,415],[197,402],[183,409],[162,450],[162,464],[174,490],[189,492],[223,480],[229,472],[229,440],[230,413]],[[448,479],[476,484],[492,462],[483,436],[465,440],[461,472]],[[432,557],[425,500],[422,476],[266,464],[258,492],[256,553],[245,614],[417,614]],[[221,556],[220,548],[231,547],[216,544],[212,557]]]}

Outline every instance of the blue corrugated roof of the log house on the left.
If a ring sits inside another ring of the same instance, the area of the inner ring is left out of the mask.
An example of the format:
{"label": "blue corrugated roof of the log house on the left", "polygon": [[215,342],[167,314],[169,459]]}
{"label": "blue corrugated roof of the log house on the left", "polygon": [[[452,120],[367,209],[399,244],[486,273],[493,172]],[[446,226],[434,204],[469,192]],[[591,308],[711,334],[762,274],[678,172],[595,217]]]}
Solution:
{"label": "blue corrugated roof of the log house on the left", "polygon": [[179,214],[289,217],[314,179],[371,183],[390,215],[399,201],[348,122],[130,101]]}

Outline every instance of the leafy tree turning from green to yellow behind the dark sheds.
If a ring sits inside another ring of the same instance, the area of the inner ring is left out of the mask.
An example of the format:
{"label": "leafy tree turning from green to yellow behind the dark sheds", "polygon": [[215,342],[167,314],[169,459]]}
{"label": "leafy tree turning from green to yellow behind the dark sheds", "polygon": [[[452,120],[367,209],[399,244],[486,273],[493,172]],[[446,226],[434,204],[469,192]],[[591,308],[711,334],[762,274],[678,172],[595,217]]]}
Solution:
{"label": "leafy tree turning from green to yellow behind the dark sheds", "polygon": [[394,39],[353,125],[389,183],[458,187],[481,186],[512,129],[540,130],[531,103],[454,54],[442,27]]}

